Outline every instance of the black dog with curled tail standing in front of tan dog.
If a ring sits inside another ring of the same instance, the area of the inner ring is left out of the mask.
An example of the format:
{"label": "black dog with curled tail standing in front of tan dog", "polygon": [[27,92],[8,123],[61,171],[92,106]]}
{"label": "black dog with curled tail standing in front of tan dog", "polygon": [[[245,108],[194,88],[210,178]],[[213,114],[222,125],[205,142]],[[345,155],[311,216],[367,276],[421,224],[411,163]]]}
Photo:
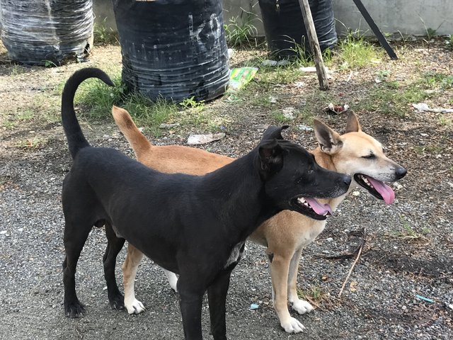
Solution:
{"label": "black dog with curled tail standing in front of tan dog", "polygon": [[305,149],[282,140],[282,128],[276,127],[250,153],[211,174],[153,171],[114,149],[90,147],[73,104],[77,87],[90,77],[112,85],[100,69],[81,69],[67,81],[62,96],[63,127],[74,159],[62,196],[67,316],[84,313],[75,291],[76,264],[93,225],[105,225],[110,303],[122,307],[115,259],[127,239],[160,266],[179,273],[185,339],[202,339],[206,290],[214,339],[226,339],[229,278],[248,235],[281,210],[325,219],[300,198],[340,196],[348,190],[350,176],[321,168]]}

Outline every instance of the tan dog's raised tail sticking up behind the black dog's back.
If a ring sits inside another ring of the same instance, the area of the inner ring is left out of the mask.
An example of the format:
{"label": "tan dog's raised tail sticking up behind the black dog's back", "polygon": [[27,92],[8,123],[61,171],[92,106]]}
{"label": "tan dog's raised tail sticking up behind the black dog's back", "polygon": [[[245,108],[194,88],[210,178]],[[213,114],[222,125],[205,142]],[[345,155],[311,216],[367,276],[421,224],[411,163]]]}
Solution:
{"label": "tan dog's raised tail sticking up behind the black dog's back", "polygon": [[142,154],[149,152],[152,145],[137,128],[130,114],[124,108],[113,106],[112,115],[116,125],[120,128],[122,134],[125,135],[132,149],[134,149],[135,156],[140,158]]}

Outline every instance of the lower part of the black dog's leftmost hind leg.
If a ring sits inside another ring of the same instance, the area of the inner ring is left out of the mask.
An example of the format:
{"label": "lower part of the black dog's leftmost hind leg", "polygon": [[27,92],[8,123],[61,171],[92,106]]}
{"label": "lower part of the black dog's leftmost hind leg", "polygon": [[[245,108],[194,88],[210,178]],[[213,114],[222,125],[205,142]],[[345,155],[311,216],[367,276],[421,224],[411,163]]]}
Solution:
{"label": "lower part of the black dog's leftmost hind leg", "polygon": [[[66,257],[63,261],[64,284],[64,314],[67,317],[82,317],[85,315],[85,306],[76,295],[76,266],[92,225],[67,223],[64,227],[64,251]],[[76,232],[76,234],[74,234]]]}

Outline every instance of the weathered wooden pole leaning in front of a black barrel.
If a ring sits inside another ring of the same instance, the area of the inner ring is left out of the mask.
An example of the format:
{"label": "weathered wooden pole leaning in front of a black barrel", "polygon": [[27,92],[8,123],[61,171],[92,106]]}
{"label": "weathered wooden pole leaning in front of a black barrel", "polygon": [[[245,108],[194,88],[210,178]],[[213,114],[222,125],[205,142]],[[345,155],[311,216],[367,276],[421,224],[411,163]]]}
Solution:
{"label": "weathered wooden pole leaning in front of a black barrel", "polygon": [[316,74],[318,74],[319,88],[323,91],[328,90],[328,80],[326,67],[324,67],[323,56],[321,55],[321,48],[319,47],[318,36],[314,28],[313,17],[311,16],[311,9],[309,0],[299,0],[299,6],[304,18],[306,35],[309,39],[311,52],[313,52],[314,64],[316,66]]}

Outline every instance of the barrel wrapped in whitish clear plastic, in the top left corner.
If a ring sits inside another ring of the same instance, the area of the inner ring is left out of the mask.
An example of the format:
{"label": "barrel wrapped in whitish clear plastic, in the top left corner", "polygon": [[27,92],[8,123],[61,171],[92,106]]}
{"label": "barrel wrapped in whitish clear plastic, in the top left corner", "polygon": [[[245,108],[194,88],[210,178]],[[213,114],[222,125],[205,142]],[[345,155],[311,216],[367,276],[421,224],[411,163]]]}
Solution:
{"label": "barrel wrapped in whitish clear plastic, in the top left corner", "polygon": [[1,40],[24,64],[82,60],[93,44],[93,0],[0,0]]}

